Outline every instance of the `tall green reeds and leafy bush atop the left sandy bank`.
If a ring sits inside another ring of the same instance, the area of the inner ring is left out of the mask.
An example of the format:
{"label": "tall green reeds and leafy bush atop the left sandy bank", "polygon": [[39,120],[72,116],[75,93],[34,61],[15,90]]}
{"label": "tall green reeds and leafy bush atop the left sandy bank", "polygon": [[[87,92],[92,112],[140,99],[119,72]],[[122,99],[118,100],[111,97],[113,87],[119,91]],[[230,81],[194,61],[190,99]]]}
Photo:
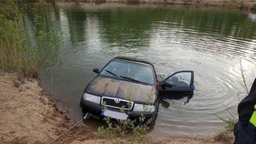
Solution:
{"label": "tall green reeds and leafy bush atop the left sandy bank", "polygon": [[41,28],[36,27],[36,34],[31,37],[25,8],[18,1],[6,1],[0,6],[0,69],[38,78],[40,68],[59,61],[61,43],[59,35],[51,27],[40,24],[39,18],[35,23]]}

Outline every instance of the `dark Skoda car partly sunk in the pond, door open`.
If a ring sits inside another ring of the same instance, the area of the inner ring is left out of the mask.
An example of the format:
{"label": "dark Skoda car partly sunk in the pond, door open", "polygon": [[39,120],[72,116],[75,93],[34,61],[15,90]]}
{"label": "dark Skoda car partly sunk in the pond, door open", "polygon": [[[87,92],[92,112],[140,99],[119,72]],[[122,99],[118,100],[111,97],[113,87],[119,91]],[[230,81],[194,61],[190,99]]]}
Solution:
{"label": "dark Skoda car partly sunk in the pond, door open", "polygon": [[83,113],[116,119],[156,118],[159,93],[194,91],[194,72],[179,71],[157,81],[150,62],[130,57],[114,57],[97,73],[80,99]]}

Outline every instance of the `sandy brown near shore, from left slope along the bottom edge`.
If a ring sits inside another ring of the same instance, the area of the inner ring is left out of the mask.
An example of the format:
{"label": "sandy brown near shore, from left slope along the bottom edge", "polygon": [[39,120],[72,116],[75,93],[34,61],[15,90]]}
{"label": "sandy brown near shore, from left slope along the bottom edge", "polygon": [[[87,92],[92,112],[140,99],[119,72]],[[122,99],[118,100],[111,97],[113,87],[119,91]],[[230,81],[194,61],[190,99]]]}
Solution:
{"label": "sandy brown near shore, from left slope along the bottom edge", "polygon": [[[36,79],[0,73],[0,141],[3,143],[49,143],[74,123],[60,112]],[[148,141],[157,138],[147,138]],[[216,139],[159,139],[172,144],[224,144]],[[112,143],[80,123],[56,143]]]}

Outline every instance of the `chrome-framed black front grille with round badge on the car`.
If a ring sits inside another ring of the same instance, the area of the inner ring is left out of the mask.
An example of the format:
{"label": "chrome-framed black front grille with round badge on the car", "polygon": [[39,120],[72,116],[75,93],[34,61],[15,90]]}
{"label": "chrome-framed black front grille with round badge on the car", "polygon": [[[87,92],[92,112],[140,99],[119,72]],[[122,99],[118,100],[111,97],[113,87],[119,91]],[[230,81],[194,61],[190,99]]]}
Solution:
{"label": "chrome-framed black front grille with round badge on the car", "polygon": [[109,108],[118,108],[123,110],[131,110],[133,108],[133,102],[129,100],[124,100],[121,98],[109,98],[102,97],[101,105]]}

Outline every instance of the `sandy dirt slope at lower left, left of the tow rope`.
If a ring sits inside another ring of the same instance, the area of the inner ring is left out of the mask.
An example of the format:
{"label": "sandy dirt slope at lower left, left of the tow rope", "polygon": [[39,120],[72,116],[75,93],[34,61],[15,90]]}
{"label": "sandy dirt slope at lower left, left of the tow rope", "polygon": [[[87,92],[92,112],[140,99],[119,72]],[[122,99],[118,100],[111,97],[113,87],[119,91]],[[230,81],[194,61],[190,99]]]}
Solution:
{"label": "sandy dirt slope at lower left, left of the tow rope", "polygon": [[35,79],[0,76],[0,141],[46,143],[66,129],[67,120],[56,111]]}

